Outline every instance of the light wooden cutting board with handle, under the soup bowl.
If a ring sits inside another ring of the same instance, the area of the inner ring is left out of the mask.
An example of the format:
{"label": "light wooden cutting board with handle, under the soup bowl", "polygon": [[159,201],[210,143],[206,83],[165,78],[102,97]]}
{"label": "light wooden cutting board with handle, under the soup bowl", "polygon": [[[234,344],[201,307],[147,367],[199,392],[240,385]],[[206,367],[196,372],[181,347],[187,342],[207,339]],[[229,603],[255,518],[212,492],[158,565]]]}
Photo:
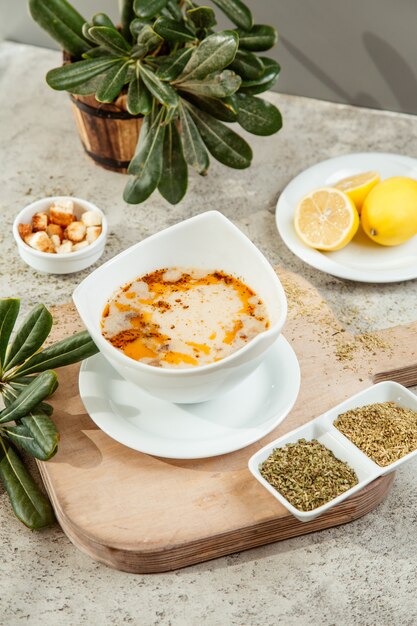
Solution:
{"label": "light wooden cutting board with handle, under the soup bowl", "polygon": [[[284,422],[243,450],[183,461],[126,448],[86,414],[79,365],[59,371],[53,398],[59,452],[38,465],[64,532],[94,559],[133,573],[174,570],[352,521],[387,495],[394,474],[302,523],[247,469],[256,450],[369,386],[375,372],[417,362],[417,322],[353,336],[311,285],[277,271],[289,302],[283,334],[300,362],[301,390]],[[56,307],[54,318],[54,339],[81,328],[71,304]]]}

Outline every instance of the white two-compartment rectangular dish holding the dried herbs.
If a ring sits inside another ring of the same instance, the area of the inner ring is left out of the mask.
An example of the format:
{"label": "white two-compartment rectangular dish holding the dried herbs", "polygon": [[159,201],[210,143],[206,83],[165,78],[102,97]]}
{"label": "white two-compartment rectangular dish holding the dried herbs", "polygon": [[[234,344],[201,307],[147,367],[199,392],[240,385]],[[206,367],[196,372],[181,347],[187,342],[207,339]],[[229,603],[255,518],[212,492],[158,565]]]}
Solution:
{"label": "white two-compartment rectangular dish holding the dried herbs", "polygon": [[[351,409],[356,409],[358,407],[365,406],[366,404],[375,404],[380,402],[395,402],[399,406],[417,411],[417,396],[415,396],[414,393],[409,391],[406,387],[403,387],[393,381],[378,383],[377,385],[368,387],[364,391],[348,398],[341,404],[338,404],[334,408],[330,409],[330,411],[316,417],[304,426],[300,426],[300,428],[297,428],[290,433],[283,435],[279,439],[268,443],[268,445],[264,446],[261,450],[258,450],[258,452],[256,452],[249,459],[248,467],[250,472],[256,480],[258,480],[261,485],[263,485],[265,489],[267,489],[269,493],[274,496],[274,498],[281,502],[281,504],[301,522],[308,522],[319,515],[322,515],[336,504],[343,502],[346,498],[349,498],[354,493],[363,489],[365,485],[372,482],[379,476],[383,476],[384,474],[394,471],[397,467],[417,455],[417,450],[414,450],[398,461],[381,467],[372,461],[372,459],[370,459],[361,450],[359,450],[354,443],[352,443],[333,425],[333,422],[337,419],[337,417],[345,411],[350,411]],[[345,461],[356,472],[358,484],[351,489],[348,489],[340,496],[333,498],[333,500],[326,502],[326,504],[323,504],[312,511],[300,511],[299,509],[296,509],[279,491],[275,489],[275,487],[270,485],[269,482],[263,478],[259,471],[259,465],[263,463],[270,454],[272,454],[275,448],[282,448],[287,443],[295,443],[299,439],[306,439],[307,441],[317,439],[326,448],[331,450],[338,459]]]}

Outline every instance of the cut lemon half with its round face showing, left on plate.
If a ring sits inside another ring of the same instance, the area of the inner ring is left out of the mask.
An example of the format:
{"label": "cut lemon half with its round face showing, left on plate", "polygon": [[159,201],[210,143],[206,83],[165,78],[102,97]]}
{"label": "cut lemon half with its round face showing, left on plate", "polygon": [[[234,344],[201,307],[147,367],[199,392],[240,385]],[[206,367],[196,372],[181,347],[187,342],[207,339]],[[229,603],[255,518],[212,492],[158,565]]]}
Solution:
{"label": "cut lemon half with its round face showing, left on plate", "polygon": [[322,187],[300,200],[295,209],[294,226],[307,246],[317,250],[340,250],[358,230],[359,215],[343,191]]}

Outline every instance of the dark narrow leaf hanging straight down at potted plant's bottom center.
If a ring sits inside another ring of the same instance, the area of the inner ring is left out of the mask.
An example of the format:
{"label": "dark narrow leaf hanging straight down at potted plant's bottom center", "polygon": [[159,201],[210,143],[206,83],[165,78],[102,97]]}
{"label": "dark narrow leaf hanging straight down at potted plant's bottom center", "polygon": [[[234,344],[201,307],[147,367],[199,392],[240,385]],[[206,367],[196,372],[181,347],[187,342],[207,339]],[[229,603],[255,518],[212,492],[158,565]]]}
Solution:
{"label": "dark narrow leaf hanging straight down at potted plant's bottom center", "polygon": [[162,175],[158,190],[165,200],[178,204],[187,191],[187,183],[188,170],[181,139],[175,122],[171,122],[165,130]]}

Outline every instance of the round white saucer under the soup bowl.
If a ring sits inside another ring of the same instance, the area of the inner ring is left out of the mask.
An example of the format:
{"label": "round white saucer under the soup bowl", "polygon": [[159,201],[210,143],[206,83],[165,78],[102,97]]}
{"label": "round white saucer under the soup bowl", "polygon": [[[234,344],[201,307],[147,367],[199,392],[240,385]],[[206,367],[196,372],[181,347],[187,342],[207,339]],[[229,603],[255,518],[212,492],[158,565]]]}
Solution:
{"label": "round white saucer under the soup bowl", "polygon": [[270,433],[288,415],[300,368],[280,336],[242,383],[215,400],[172,404],[124,380],[101,355],[83,362],[80,396],[109,437],[147,454],[198,459],[239,450]]}

